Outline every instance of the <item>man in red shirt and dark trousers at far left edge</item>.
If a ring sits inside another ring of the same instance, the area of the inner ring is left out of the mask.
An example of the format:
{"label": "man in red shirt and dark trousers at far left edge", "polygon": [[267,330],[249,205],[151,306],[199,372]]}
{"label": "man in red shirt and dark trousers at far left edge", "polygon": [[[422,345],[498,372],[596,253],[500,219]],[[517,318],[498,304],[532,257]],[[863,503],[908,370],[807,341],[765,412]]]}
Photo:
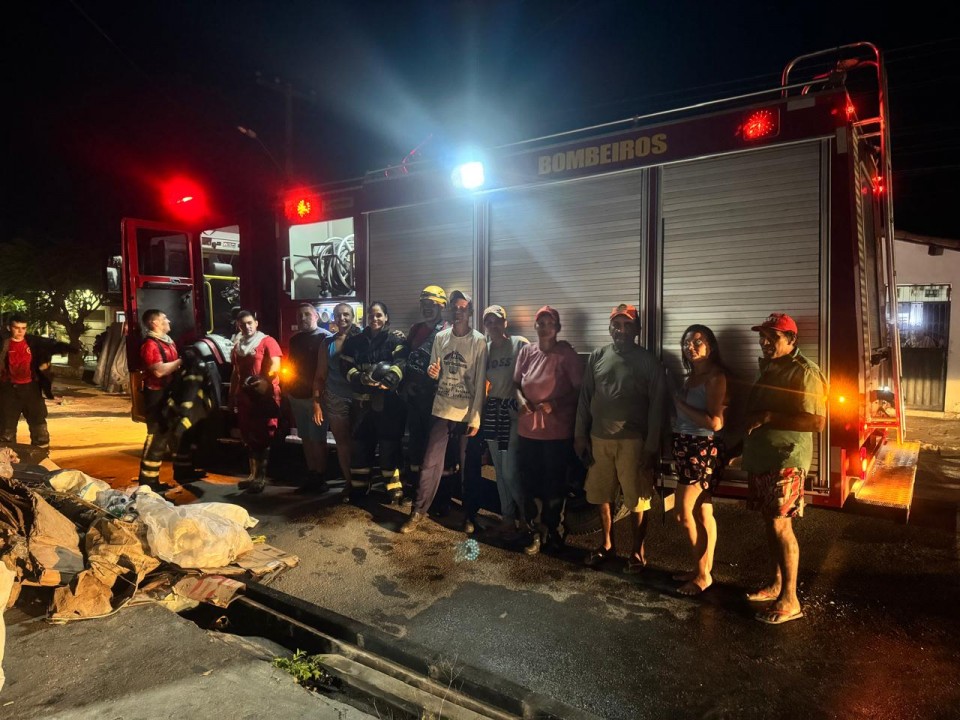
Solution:
{"label": "man in red shirt and dark trousers at far left edge", "polygon": [[47,430],[47,405],[40,389],[40,373],[50,367],[55,353],[68,352],[70,346],[48,338],[27,334],[26,318],[13,314],[7,320],[10,336],[0,346],[0,442],[17,441],[17,424],[22,415],[30,428],[30,444],[50,447]]}

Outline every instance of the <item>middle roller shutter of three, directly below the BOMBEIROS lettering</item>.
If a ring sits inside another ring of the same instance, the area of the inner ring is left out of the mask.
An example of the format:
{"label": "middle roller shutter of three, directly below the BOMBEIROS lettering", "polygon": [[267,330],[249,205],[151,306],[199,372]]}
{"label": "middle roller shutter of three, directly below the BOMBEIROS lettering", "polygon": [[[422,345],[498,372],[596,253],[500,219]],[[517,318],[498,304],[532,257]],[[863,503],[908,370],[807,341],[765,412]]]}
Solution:
{"label": "middle roller shutter of three, directly below the BOMBEIROS lettering", "polygon": [[610,342],[610,308],[640,300],[642,171],[511,192],[489,212],[490,303],[536,337],[543,305],[578,352]]}

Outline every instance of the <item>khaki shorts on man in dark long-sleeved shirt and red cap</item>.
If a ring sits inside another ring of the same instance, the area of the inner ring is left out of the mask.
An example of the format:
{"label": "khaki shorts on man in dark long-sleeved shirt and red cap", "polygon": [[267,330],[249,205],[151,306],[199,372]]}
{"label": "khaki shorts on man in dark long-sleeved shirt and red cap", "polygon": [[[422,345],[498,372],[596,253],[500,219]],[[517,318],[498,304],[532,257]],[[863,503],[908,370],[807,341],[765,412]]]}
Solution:
{"label": "khaki shorts on man in dark long-sleeved shirt and red cap", "polygon": [[642,438],[601,440],[590,437],[593,464],[587,470],[584,488],[587,502],[593,505],[613,504],[617,489],[623,490],[623,504],[631,512],[650,509],[653,497],[653,469],[643,466]]}

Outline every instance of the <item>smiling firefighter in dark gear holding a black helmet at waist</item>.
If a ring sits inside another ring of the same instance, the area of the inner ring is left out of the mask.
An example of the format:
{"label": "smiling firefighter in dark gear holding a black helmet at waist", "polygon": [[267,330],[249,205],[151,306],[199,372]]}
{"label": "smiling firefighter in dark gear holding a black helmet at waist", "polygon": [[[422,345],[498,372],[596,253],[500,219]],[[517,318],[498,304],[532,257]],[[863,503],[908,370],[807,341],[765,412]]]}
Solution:
{"label": "smiling firefighter in dark gear holding a black helmet at waist", "polygon": [[402,332],[390,329],[382,302],[370,305],[367,327],[348,338],[340,352],[343,376],[353,389],[354,429],[350,462],[351,491],[368,491],[377,446],[380,474],[390,499],[403,496],[400,466],[406,405],[397,388],[403,379],[407,345]]}

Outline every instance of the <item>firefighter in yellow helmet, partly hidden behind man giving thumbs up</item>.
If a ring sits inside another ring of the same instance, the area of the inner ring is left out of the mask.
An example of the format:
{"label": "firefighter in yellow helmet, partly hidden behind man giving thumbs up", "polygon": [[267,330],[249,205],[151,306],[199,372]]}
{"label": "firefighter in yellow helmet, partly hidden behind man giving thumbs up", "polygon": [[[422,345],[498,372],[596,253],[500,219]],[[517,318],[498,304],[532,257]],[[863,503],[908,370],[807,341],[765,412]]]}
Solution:
{"label": "firefighter in yellow helmet, partly hidden behind man giving thumbs up", "polygon": [[[439,285],[428,285],[420,293],[420,317],[407,334],[406,376],[400,388],[400,395],[407,405],[407,433],[409,436],[407,458],[409,473],[407,476],[407,494],[416,496],[419,485],[420,464],[427,447],[430,432],[430,419],[433,415],[433,398],[437,393],[437,381],[430,378],[427,369],[430,366],[430,351],[437,333],[450,327],[443,319],[443,310],[447,306],[447,294]],[[453,452],[448,454],[444,475],[456,472],[457,458]]]}

